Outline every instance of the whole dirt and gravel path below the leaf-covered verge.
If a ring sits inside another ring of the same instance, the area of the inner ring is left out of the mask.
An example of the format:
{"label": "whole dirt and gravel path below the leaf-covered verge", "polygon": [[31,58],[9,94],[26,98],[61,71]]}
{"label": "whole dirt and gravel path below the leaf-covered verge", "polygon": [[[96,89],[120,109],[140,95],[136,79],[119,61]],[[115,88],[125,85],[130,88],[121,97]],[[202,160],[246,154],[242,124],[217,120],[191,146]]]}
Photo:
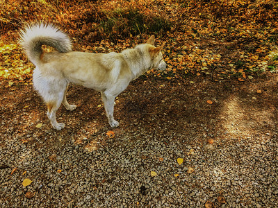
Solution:
{"label": "whole dirt and gravel path below the leaf-covered verge", "polygon": [[0,205],[278,207],[276,83],[140,78],[112,138],[97,92],[71,86],[56,131],[31,85],[2,82]]}

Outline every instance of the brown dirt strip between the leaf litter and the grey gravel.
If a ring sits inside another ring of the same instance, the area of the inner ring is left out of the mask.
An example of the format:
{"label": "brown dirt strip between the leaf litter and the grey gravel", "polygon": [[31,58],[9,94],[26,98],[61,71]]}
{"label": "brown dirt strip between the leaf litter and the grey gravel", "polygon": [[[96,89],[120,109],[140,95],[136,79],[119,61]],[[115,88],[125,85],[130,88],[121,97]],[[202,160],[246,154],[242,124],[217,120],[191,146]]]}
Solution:
{"label": "brown dirt strip between the leaf litter and the grey gravel", "polygon": [[[61,131],[51,128],[46,107],[31,84],[9,87],[6,81],[1,81],[0,94],[2,138],[16,137],[23,143],[37,143],[53,132],[49,144],[74,139],[85,148],[88,137],[105,137],[111,130],[101,97],[92,89],[69,87],[68,101],[77,108],[68,112],[60,107],[58,121],[66,124]],[[115,140],[126,132],[142,135],[147,132],[160,135],[161,139],[176,135],[175,139],[187,144],[205,145],[207,139],[214,139],[222,145],[246,137],[277,134],[276,73],[245,83],[213,82],[209,77],[171,82],[141,76],[131,82],[115,103],[115,119],[120,121],[120,127],[113,130]],[[42,126],[38,128],[40,123]],[[106,144],[97,146],[101,145]]]}

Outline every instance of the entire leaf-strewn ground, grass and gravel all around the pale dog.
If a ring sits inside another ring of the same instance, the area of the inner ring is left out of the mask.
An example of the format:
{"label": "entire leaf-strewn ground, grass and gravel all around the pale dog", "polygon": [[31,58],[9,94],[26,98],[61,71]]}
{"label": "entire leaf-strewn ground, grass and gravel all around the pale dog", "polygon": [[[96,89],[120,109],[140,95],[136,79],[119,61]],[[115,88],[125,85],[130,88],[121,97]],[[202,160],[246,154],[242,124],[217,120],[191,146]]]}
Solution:
{"label": "entire leaf-strewn ground, grass and gravel all around the pale dog", "polygon": [[[275,207],[275,1],[2,1],[0,204],[5,207]],[[156,35],[167,70],[115,101],[71,85],[51,128],[17,44],[54,22],[74,51],[120,52]]]}

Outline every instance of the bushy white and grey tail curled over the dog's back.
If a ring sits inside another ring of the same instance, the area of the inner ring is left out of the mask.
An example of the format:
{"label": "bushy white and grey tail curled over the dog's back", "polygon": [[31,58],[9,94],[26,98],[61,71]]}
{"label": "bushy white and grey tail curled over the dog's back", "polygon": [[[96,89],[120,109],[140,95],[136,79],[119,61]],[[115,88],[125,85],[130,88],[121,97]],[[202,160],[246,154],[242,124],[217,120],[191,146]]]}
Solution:
{"label": "bushy white and grey tail curled over the dog's back", "polygon": [[51,24],[31,24],[19,31],[20,43],[33,64],[40,62],[42,45],[54,47],[60,53],[72,51],[70,37]]}

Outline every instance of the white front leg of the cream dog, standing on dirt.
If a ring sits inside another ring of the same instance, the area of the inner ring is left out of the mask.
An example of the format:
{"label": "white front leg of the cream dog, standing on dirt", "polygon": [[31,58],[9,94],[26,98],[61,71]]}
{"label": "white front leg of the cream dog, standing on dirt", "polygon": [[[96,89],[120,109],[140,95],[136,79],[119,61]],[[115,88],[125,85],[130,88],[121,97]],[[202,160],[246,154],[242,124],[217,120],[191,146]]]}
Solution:
{"label": "white front leg of the cream dog, standing on dirt", "polygon": [[114,119],[114,116],[113,116],[115,97],[116,96],[113,96],[111,94],[106,94],[105,92],[101,92],[101,98],[102,98],[102,101],[104,102],[104,108],[106,111],[108,122],[112,128],[116,128],[120,124],[119,122],[117,122]]}

